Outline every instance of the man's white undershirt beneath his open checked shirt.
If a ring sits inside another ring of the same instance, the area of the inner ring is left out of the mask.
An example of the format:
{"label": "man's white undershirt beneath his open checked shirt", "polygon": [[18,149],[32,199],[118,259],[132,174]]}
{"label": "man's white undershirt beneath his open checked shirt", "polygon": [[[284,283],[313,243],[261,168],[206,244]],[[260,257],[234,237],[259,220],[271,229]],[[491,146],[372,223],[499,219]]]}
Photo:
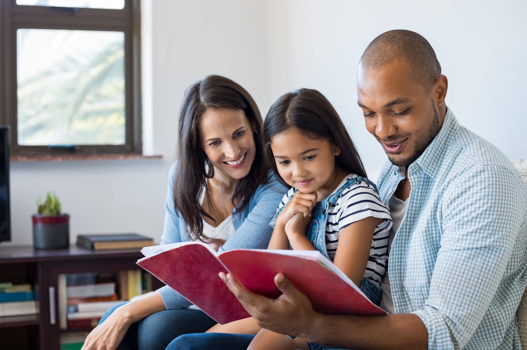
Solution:
{"label": "man's white undershirt beneath his open checked shirt", "polygon": [[[392,217],[392,228],[390,229],[390,235],[388,238],[388,264],[390,263],[389,254],[392,250],[392,241],[394,236],[401,226],[404,215],[406,214],[406,208],[408,207],[408,198],[405,201],[395,197],[395,194],[390,198],[388,202],[388,207],[390,208],[390,216]],[[380,289],[383,290],[383,298],[380,300],[380,307],[386,310],[387,313],[393,314],[394,302],[392,299],[392,289],[390,286],[390,280],[388,277],[388,265],[386,265],[386,273],[383,276],[383,280],[380,283]]]}

